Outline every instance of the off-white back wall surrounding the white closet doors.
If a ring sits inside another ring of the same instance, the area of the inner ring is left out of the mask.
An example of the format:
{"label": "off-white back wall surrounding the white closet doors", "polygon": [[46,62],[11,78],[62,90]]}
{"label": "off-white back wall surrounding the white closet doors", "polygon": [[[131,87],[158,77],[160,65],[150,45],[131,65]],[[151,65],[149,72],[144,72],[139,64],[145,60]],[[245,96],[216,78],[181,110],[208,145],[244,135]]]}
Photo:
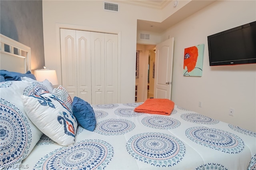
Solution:
{"label": "off-white back wall surrounding the white closet doors", "polygon": [[[102,0],[43,0],[45,64],[56,69],[61,82],[60,47],[56,24],[69,24],[85,30],[114,32],[119,37],[121,56],[120,102],[134,102],[137,19],[160,18],[159,10],[119,3],[119,12],[104,10]],[[147,15],[145,15],[147,14]]]}

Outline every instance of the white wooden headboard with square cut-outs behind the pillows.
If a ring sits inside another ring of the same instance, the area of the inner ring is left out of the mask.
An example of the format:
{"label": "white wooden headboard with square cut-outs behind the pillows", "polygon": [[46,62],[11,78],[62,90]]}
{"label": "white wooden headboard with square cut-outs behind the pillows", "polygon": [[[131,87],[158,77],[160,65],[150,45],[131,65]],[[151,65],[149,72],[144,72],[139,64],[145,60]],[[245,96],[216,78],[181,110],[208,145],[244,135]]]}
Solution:
{"label": "white wooden headboard with square cut-outs behind the pillows", "polygon": [[0,34],[0,69],[26,73],[31,71],[30,47]]}

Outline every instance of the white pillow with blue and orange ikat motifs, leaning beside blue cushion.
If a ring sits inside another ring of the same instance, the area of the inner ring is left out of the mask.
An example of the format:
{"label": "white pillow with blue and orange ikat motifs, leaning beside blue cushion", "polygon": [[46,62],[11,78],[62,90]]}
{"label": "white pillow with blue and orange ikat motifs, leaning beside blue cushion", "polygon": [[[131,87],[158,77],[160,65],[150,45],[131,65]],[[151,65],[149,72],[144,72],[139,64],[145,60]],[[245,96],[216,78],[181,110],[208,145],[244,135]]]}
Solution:
{"label": "white pillow with blue and orange ikat motifs, leaning beside blue cushion", "polygon": [[55,95],[23,96],[23,105],[29,119],[46,136],[62,146],[74,144],[77,121],[72,111]]}

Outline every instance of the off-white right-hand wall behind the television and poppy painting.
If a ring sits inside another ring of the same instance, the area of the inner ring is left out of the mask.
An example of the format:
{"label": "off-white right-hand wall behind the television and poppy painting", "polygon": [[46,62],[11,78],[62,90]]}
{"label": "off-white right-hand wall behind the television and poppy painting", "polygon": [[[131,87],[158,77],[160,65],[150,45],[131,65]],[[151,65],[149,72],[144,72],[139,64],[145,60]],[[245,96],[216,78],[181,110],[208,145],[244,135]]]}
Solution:
{"label": "off-white right-hand wall behind the television and poppy painting", "polygon": [[[162,40],[174,37],[176,105],[256,132],[256,64],[210,67],[207,42],[207,36],[253,21],[256,1],[216,1],[162,34]],[[198,44],[204,44],[202,77],[184,77],[184,48]]]}

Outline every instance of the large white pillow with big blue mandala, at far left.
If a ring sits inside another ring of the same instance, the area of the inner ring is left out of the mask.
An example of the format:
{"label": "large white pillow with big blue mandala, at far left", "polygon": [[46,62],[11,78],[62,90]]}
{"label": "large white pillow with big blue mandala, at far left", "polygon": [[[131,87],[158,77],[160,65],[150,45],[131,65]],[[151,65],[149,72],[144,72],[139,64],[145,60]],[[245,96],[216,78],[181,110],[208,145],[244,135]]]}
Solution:
{"label": "large white pillow with big blue mandala, at far left", "polygon": [[23,107],[22,96],[33,94],[30,82],[0,83],[0,169],[19,168],[43,134]]}

